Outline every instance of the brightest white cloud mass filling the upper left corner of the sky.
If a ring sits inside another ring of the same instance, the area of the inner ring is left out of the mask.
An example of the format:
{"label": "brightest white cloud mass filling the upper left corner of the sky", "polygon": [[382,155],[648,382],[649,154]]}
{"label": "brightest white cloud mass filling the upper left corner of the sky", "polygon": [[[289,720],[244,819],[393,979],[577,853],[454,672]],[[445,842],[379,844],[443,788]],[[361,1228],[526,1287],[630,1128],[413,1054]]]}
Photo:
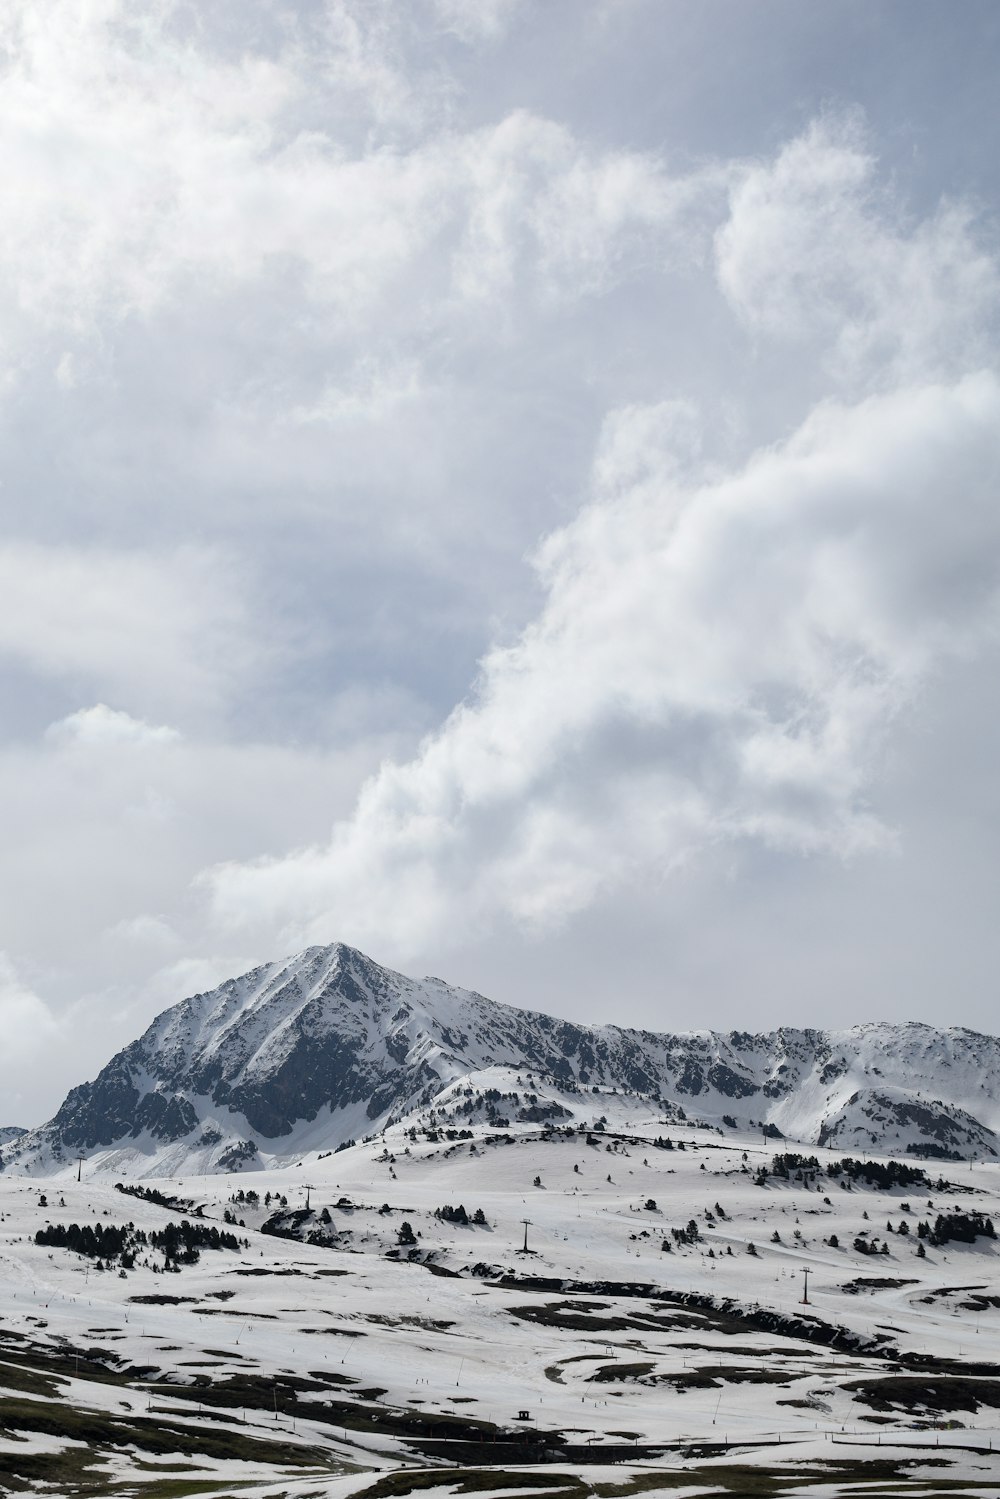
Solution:
{"label": "brightest white cloud mass filling the upper left corner of the sky", "polygon": [[[475,7],[480,36],[504,9]],[[448,18],[472,24],[462,6]],[[291,27],[271,55],[237,60],[181,43],[174,22],[169,4],[40,13],[19,0],[0,24],[12,372],[42,330],[82,343],[192,285],[231,295],[289,271],[354,333],[376,312],[397,327],[454,319],[505,298],[516,271],[522,294],[537,276],[538,294],[589,295],[661,258],[705,192],[699,172],[675,181],[655,156],[591,148],[528,111],[456,130],[433,70],[430,112],[414,93],[391,7],[331,4],[318,34]],[[375,141],[349,139],[358,111]],[[388,129],[399,120],[414,129]],[[73,355],[57,358],[64,388],[81,378]]]}

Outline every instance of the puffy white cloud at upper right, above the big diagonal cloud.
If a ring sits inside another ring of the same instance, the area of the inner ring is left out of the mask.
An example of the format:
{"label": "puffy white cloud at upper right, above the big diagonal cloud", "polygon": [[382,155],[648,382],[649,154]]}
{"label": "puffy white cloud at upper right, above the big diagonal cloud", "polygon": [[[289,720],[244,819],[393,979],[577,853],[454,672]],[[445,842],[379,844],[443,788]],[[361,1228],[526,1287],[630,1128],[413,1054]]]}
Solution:
{"label": "puffy white cloud at upper right, above the big diagonal cloud", "polygon": [[907,222],[856,117],[819,120],[738,172],[715,243],[720,286],[750,328],[820,337],[841,373],[919,378],[991,348],[1000,276],[969,205]]}

